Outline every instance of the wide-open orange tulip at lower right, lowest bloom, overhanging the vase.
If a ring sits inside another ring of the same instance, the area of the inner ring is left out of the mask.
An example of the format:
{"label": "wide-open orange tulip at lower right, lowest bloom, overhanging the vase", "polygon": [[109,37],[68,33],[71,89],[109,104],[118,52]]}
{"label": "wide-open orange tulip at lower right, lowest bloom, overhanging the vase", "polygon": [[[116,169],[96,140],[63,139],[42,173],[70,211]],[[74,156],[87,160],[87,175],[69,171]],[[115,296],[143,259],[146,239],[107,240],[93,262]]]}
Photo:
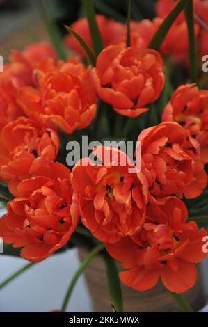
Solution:
{"label": "wide-open orange tulip at lower right, lowest bloom, overhanging the vase", "polygon": [[194,221],[186,222],[187,209],[182,200],[168,198],[164,205],[149,205],[141,231],[115,244],[106,244],[109,254],[122,262],[120,280],[138,291],[154,287],[159,278],[175,293],[193,287],[197,277],[195,263],[206,257],[202,239],[207,232],[198,230]]}

